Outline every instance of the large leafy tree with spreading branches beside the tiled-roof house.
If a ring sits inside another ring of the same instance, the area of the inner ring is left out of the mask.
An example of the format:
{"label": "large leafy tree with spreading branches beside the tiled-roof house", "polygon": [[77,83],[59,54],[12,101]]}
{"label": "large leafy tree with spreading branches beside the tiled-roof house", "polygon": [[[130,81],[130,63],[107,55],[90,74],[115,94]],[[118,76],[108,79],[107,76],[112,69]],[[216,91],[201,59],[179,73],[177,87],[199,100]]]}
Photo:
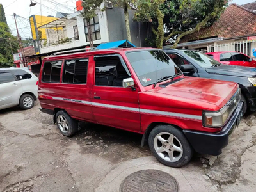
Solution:
{"label": "large leafy tree with spreading branches beside the tiled-roof house", "polygon": [[[138,0],[135,20],[152,22],[156,46],[173,38],[176,47],[183,36],[213,24],[225,10],[226,0]],[[165,28],[164,28],[165,26]]]}

